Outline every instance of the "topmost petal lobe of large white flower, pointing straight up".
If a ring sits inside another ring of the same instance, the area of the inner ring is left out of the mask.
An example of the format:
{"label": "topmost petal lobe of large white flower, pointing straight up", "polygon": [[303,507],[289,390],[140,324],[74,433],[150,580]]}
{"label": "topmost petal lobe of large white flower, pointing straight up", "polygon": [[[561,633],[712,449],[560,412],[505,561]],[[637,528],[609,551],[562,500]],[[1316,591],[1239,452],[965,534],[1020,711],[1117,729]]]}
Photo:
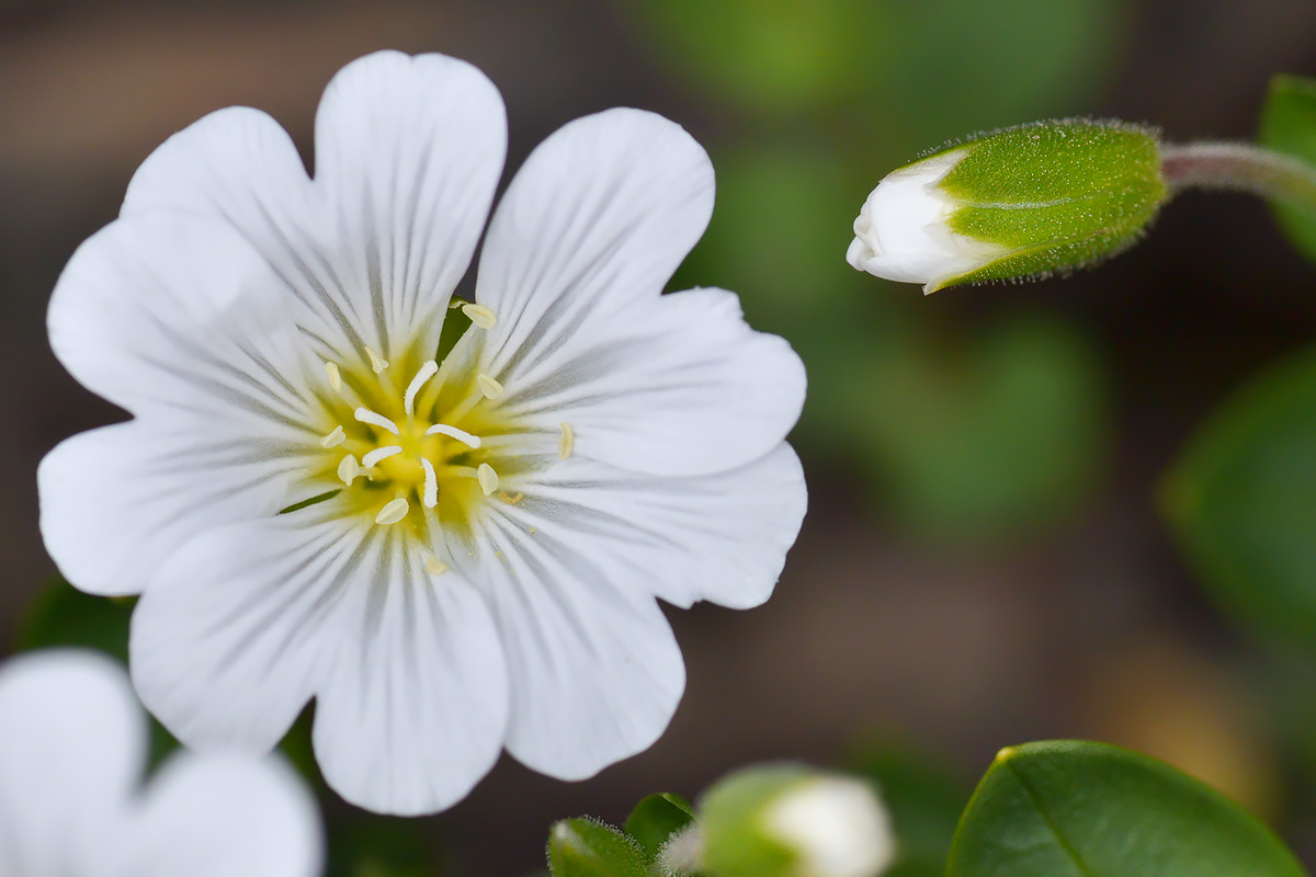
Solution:
{"label": "topmost petal lobe of large white flower, pointing straight up", "polygon": [[316,188],[359,326],[388,359],[438,341],[507,154],[503,99],[445,55],[380,51],[343,67],[316,116]]}

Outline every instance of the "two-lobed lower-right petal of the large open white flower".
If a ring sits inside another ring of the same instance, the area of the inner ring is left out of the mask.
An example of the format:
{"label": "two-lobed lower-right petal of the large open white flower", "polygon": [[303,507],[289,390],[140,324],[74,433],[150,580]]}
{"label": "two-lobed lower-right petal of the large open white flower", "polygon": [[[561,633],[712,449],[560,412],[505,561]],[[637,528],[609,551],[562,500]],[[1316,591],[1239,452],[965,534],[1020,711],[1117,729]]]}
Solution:
{"label": "two-lobed lower-right petal of the large open white flower", "polygon": [[587,777],[647,748],[680,698],[680,652],[649,594],[680,606],[767,600],[804,517],[804,476],[779,444],[697,479],[572,458],[511,489],[525,498],[453,556],[472,575],[501,573],[488,593],[512,677],[508,751],[542,773]]}

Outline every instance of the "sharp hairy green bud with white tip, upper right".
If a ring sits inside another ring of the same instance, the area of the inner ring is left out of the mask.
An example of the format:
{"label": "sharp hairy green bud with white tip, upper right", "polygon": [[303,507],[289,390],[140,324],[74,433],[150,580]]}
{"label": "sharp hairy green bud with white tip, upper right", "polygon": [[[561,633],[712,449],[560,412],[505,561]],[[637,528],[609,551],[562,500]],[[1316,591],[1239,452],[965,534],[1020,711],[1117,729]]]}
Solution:
{"label": "sharp hairy green bud with white tip, upper right", "polygon": [[1132,246],[1167,200],[1157,131],[1059,120],[951,146],[883,179],[854,221],[859,271],[924,284],[1044,277]]}

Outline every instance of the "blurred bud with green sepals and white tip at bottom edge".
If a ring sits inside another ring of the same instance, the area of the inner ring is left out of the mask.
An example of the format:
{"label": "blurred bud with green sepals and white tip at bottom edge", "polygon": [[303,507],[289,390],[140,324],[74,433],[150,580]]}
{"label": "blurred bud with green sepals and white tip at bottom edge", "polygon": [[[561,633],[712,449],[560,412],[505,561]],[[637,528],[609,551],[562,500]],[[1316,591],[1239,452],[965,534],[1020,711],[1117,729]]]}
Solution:
{"label": "blurred bud with green sepals and white tip at bottom edge", "polygon": [[803,765],[719,781],[695,814],[697,870],[709,877],[876,877],[895,855],[873,785]]}

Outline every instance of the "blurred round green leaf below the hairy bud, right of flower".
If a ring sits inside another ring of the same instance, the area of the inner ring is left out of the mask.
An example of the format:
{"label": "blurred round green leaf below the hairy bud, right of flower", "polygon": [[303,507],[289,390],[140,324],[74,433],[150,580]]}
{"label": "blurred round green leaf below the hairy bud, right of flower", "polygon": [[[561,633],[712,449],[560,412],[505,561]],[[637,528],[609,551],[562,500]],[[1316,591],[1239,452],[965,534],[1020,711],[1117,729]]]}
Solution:
{"label": "blurred round green leaf below the hairy bud, right of flower", "polygon": [[1059,320],[1011,318],[959,348],[869,350],[845,388],[850,430],[884,500],[938,542],[1054,523],[1088,496],[1105,460],[1104,376],[1087,339]]}

